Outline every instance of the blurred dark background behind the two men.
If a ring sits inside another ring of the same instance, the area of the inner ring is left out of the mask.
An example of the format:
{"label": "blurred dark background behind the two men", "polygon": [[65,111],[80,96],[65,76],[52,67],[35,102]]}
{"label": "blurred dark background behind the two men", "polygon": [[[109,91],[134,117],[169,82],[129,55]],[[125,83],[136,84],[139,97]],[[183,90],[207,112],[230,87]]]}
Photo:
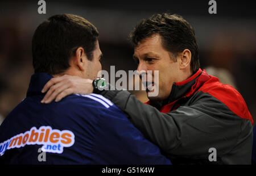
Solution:
{"label": "blurred dark background behind the two men", "polygon": [[[217,14],[209,14],[205,1],[47,1],[46,14],[38,14],[38,1],[0,2],[0,119],[26,97],[33,74],[31,40],[36,27],[55,14],[76,14],[100,32],[104,53],[102,69],[135,70],[128,35],[143,18],[158,12],[183,16],[195,28],[201,68],[237,88],[256,115],[256,11],[255,1],[218,1]],[[145,94],[133,91],[146,101]],[[1,120],[0,120],[1,121]],[[1,123],[1,122],[0,122]]]}

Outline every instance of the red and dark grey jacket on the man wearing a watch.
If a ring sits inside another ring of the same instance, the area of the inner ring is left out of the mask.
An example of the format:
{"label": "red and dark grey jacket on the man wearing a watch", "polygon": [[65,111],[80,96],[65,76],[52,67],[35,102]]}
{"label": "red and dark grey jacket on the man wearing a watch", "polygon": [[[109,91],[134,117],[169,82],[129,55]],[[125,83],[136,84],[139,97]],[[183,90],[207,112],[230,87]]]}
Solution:
{"label": "red and dark grey jacket on the man wearing a watch", "polygon": [[[253,119],[246,103],[236,89],[205,70],[175,82],[161,102],[143,104],[128,91],[102,95],[173,164],[251,164]],[[210,148],[217,151],[216,162],[208,159]]]}

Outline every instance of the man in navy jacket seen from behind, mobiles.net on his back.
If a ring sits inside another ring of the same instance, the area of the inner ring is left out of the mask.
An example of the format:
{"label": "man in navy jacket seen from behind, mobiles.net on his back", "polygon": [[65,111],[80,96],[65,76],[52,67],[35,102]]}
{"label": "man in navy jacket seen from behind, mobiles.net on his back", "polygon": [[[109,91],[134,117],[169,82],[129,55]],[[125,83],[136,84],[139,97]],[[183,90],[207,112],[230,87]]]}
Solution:
{"label": "man in navy jacket seen from behind, mobiles.net on his back", "polygon": [[101,95],[41,103],[41,90],[52,77],[97,77],[102,57],[97,37],[93,24],[76,15],[54,15],[39,25],[27,97],[0,126],[1,164],[171,164]]}

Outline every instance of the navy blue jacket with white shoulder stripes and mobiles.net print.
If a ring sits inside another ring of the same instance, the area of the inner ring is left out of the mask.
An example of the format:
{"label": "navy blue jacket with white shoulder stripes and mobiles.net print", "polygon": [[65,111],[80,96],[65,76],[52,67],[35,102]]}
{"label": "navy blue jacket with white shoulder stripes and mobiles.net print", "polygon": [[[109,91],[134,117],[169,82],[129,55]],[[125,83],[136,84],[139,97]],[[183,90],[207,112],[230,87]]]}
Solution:
{"label": "navy blue jacket with white shoulder stripes and mobiles.net print", "polygon": [[51,78],[34,74],[27,97],[0,126],[1,164],[171,164],[101,95],[40,103]]}

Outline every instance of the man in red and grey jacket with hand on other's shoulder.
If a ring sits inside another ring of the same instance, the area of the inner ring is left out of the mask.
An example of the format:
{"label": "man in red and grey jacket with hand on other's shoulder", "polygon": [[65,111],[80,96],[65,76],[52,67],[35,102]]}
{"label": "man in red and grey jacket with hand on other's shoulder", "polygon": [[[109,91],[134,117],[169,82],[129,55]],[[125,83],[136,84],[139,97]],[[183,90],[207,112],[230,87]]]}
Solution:
{"label": "man in red and grey jacket with hand on other's shoulder", "polygon": [[[157,82],[152,82],[154,72],[152,80],[144,82],[150,101],[143,104],[128,91],[98,91],[97,86],[94,93],[121,108],[173,164],[251,164],[253,119],[237,90],[200,69],[192,26],[179,15],[156,14],[137,24],[131,41],[137,72],[159,71]],[[67,77],[51,82],[63,79]],[[51,89],[43,101],[91,93],[92,85],[82,82],[66,85],[65,92]],[[151,97],[156,89],[159,93]]]}

